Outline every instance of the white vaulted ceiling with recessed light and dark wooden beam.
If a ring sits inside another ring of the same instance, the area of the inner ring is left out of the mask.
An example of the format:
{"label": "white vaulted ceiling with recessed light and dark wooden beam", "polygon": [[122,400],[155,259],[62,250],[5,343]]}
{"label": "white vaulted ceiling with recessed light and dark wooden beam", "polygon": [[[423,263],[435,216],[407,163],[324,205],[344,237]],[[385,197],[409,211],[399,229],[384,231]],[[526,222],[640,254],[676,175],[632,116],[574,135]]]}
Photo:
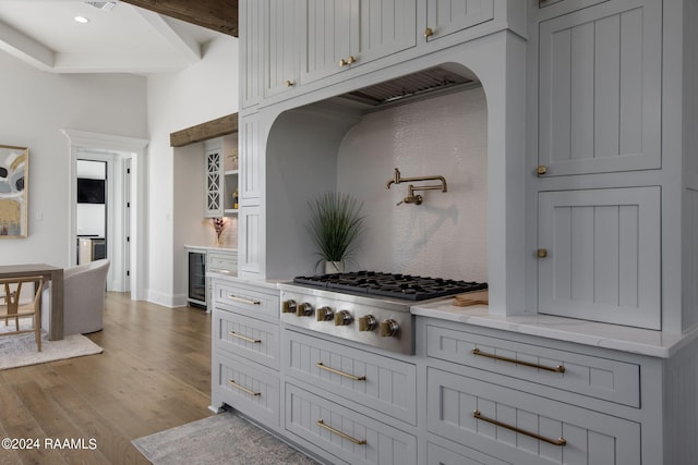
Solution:
{"label": "white vaulted ceiling with recessed light and dark wooden beam", "polygon": [[238,0],[0,1],[0,50],[53,73],[183,70],[237,34]]}

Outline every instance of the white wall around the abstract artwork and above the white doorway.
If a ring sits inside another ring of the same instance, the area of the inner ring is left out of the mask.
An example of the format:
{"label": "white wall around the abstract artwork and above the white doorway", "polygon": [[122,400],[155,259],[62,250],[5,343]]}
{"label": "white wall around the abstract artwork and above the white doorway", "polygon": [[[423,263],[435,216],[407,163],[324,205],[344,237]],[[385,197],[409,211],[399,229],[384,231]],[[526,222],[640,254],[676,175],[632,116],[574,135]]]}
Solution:
{"label": "white wall around the abstract artwork and above the white doorway", "polygon": [[0,144],[29,148],[28,237],[0,241],[0,265],[69,265],[69,142],[61,129],[146,138],[146,79],[52,74],[0,51]]}

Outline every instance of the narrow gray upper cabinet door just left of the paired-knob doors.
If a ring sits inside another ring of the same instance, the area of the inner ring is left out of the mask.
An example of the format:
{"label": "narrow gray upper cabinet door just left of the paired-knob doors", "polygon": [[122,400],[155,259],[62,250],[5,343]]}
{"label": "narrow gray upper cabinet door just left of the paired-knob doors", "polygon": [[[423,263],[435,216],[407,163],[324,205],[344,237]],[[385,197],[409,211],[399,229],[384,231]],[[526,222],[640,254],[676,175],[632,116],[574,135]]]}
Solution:
{"label": "narrow gray upper cabinet door just left of the paired-knob doors", "polygon": [[266,0],[264,96],[272,97],[298,85],[300,0]]}

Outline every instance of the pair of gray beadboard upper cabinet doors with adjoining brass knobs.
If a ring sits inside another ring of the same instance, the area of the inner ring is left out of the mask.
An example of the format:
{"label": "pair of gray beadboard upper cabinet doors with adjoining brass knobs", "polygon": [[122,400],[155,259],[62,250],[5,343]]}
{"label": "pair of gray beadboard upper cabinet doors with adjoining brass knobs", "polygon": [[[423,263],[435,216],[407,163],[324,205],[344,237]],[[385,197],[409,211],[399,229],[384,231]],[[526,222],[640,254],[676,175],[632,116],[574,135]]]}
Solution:
{"label": "pair of gray beadboard upper cabinet doors with adjoining brass knobs", "polygon": [[416,0],[308,0],[301,23],[306,32],[301,81],[413,47],[416,14]]}

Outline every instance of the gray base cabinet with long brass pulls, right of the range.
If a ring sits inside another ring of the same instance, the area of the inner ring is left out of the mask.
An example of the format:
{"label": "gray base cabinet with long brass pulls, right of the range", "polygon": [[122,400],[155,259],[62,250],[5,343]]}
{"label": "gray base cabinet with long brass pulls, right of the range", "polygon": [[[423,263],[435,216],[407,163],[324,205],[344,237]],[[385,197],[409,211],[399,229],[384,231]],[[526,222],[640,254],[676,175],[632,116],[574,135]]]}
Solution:
{"label": "gray base cabinet with long brass pulls, right of the range", "polygon": [[662,401],[642,383],[661,378],[654,363],[435,319],[418,327],[432,441],[515,464],[660,463],[647,451],[661,442]]}

